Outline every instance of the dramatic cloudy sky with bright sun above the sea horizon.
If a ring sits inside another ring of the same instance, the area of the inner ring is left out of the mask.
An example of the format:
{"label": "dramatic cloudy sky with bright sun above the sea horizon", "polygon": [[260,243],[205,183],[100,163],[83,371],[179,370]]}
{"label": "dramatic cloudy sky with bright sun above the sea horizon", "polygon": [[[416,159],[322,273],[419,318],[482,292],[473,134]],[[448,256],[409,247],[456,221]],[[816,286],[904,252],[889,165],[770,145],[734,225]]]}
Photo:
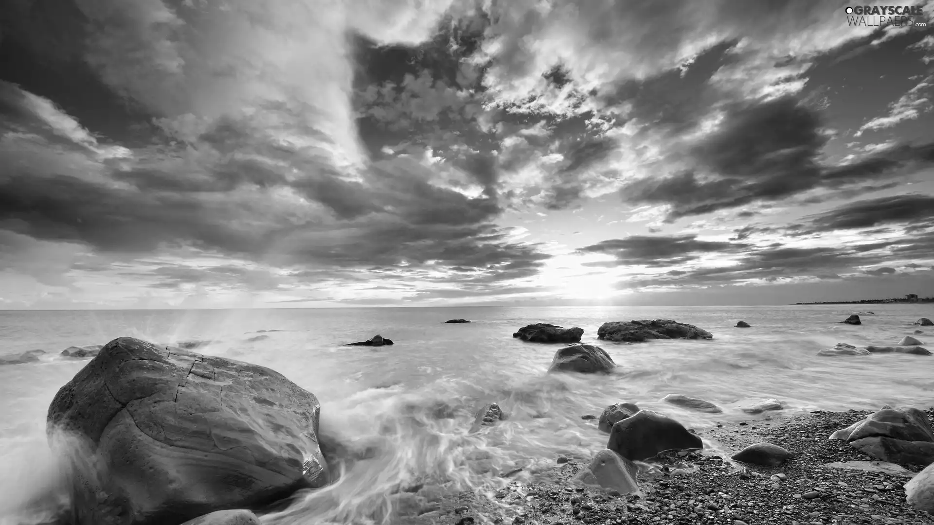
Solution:
{"label": "dramatic cloudy sky with bright sun above the sea horizon", "polygon": [[847,5],[7,0],[0,309],[932,296],[934,0]]}

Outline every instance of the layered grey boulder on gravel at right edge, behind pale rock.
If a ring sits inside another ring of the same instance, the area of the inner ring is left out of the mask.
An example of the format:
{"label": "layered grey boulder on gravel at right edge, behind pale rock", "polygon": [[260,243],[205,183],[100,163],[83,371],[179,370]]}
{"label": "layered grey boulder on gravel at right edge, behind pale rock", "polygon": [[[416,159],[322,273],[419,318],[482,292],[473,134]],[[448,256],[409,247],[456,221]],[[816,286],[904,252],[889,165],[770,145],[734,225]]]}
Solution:
{"label": "layered grey boulder on gravel at right edge, behind pale rock", "polygon": [[883,408],[830,439],[847,442],[872,458],[900,464],[934,461],[934,432],[927,415],[917,408]]}

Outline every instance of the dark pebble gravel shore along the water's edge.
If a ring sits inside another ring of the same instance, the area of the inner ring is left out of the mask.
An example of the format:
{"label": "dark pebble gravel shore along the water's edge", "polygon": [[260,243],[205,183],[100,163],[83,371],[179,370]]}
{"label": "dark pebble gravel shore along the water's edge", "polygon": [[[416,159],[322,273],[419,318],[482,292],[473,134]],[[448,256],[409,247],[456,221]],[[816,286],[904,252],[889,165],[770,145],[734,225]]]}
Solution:
{"label": "dark pebble gravel shore along the water's edge", "polygon": [[[460,494],[408,523],[571,524],[704,523],[934,525],[934,516],[905,502],[902,486],[924,465],[889,473],[833,468],[831,462],[871,461],[828,439],[870,412],[813,412],[724,423],[701,433],[713,447],[666,453],[640,465],[644,494],[618,496],[573,487],[569,479],[588,458],[556,458],[555,468],[514,481],[492,494]],[[927,410],[934,419],[934,408]],[[743,447],[770,442],[796,453],[780,467],[729,460]],[[865,463],[861,463],[864,464]]]}

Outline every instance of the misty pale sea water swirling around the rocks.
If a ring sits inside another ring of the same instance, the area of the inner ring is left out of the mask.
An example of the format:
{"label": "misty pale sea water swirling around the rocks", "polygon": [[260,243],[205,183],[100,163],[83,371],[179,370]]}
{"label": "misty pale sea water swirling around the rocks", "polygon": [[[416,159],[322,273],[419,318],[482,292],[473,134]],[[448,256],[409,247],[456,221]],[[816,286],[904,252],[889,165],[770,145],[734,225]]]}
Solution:
{"label": "misty pale sea water swirling around the rocks", "polygon": [[[861,315],[861,326],[838,322],[859,308],[875,315]],[[124,335],[160,344],[209,341],[195,351],[281,372],[318,396],[321,433],[346,450],[337,482],[296,494],[263,523],[404,523],[416,509],[431,508],[432,493],[496,490],[531,478],[561,455],[589,456],[605,446],[606,435],[581,416],[620,401],[699,431],[766,417],[739,406],[772,397],[785,413],[934,405],[934,357],[815,355],[838,342],[893,345],[918,328],[925,333],[916,337],[934,347],[934,330],[912,324],[921,317],[934,318],[934,306],[0,311],[0,354],[48,352],[40,362],[0,366],[0,524],[39,523],[64,504],[63,460],[50,451],[45,415],[55,392],[87,363],[58,356],[72,345]],[[458,318],[473,322],[443,324]],[[630,319],[674,319],[715,338],[637,345],[596,339],[601,323]],[[753,328],[733,328],[740,319]],[[583,328],[582,342],[605,349],[617,372],[546,374],[561,346],[512,337],[532,322]],[[341,346],[376,333],[395,345]],[[253,339],[258,335],[266,337]],[[670,393],[700,397],[724,413],[659,401]],[[468,433],[486,402],[499,403],[509,418]],[[403,490],[416,484],[427,489]]]}

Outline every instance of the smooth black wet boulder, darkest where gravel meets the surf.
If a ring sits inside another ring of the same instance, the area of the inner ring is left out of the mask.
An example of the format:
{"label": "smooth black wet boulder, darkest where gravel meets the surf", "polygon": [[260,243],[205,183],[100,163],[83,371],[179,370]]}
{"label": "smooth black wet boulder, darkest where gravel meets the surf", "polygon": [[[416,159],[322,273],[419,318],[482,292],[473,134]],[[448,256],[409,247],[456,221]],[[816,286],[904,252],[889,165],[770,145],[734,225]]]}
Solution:
{"label": "smooth black wet boulder, darkest where gravel meets the surf", "polygon": [[640,410],[613,425],[606,447],[627,460],[642,461],[665,450],[703,448],[703,442],[674,419]]}

